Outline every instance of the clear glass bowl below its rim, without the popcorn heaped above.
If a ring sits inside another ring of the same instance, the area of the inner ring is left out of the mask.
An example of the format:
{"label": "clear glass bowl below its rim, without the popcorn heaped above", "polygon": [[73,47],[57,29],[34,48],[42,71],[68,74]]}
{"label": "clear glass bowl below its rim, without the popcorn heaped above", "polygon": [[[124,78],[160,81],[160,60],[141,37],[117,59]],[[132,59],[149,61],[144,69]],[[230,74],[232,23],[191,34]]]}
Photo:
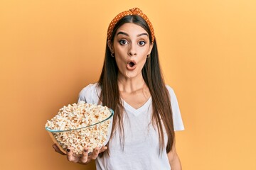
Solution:
{"label": "clear glass bowl below its rim, without the popcorn heaped above", "polygon": [[68,147],[73,147],[73,153],[81,155],[85,147],[92,152],[95,147],[107,145],[110,140],[114,111],[110,109],[110,113],[105,120],[83,128],[51,130],[46,127],[46,130],[63,153],[66,153]]}

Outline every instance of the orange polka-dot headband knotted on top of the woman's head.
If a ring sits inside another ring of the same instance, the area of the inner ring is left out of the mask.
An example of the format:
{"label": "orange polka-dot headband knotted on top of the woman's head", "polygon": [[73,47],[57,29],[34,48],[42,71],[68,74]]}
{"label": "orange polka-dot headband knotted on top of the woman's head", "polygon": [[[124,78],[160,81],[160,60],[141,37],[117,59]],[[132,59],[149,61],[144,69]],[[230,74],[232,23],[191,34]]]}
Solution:
{"label": "orange polka-dot headband knotted on top of the woman's head", "polygon": [[152,26],[151,22],[149,21],[149,18],[147,18],[147,16],[139,8],[132,8],[129,11],[124,11],[122,13],[119,13],[116,17],[114,17],[114,19],[110,23],[109,28],[107,29],[107,40],[111,40],[111,38],[112,38],[111,35],[112,35],[112,32],[113,32],[113,28],[117,24],[117,22],[121,18],[123,18],[124,16],[132,16],[132,15],[141,16],[146,21],[146,23],[148,24],[149,29],[150,29],[150,33],[151,33],[151,36],[152,36],[152,42],[154,42],[153,26]]}

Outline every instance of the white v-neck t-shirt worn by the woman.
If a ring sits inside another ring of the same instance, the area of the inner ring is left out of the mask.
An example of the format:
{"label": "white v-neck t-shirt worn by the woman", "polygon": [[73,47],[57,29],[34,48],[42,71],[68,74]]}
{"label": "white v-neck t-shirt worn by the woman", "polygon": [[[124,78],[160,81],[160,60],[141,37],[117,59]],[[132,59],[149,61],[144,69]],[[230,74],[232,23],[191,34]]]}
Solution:
{"label": "white v-neck t-shirt worn by the woman", "polygon": [[[184,130],[174,90],[168,85],[166,88],[171,96],[174,130]],[[97,104],[99,96],[100,89],[97,89],[97,84],[89,84],[80,91],[78,100]],[[110,140],[110,156],[105,153],[103,157],[97,157],[97,170],[170,170],[166,147],[159,155],[159,135],[157,129],[151,125],[151,98],[138,109],[132,108],[124,100],[122,102],[126,112],[123,120],[124,149],[120,144],[119,132],[116,130]],[[166,134],[164,138],[166,145]]]}

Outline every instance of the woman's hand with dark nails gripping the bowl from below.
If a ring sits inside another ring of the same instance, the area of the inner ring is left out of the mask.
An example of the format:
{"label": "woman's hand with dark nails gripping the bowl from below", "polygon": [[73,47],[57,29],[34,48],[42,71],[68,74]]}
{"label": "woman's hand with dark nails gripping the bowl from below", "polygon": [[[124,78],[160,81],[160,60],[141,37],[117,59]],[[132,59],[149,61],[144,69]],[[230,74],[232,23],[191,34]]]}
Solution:
{"label": "woman's hand with dark nails gripping the bowl from below", "polygon": [[67,155],[68,161],[80,164],[88,164],[92,159],[96,159],[101,152],[104,152],[107,149],[107,147],[96,147],[95,149],[93,149],[93,152],[90,155],[88,155],[89,149],[85,147],[85,149],[82,152],[82,156],[75,156],[73,154],[73,148],[71,147],[68,147],[66,154],[61,152],[60,148],[56,144],[53,145],[53,148],[55,149],[55,152]]}

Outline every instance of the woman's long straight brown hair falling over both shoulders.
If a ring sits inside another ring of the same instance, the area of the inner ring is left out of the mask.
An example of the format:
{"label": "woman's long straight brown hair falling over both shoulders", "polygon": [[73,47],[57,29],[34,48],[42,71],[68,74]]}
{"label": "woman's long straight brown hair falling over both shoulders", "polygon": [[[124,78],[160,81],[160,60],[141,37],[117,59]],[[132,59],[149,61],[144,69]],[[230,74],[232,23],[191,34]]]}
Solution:
{"label": "woman's long straight brown hair falling over both shoulders", "polygon": [[[146,21],[141,16],[132,15],[124,16],[121,18],[116,26],[114,26],[112,32],[112,42],[114,40],[114,35],[117,29],[124,23],[134,23],[141,26],[149,34],[149,40],[152,40],[149,26]],[[114,110],[114,118],[112,125],[112,135],[114,130],[120,130],[120,142],[124,148],[124,128],[123,128],[123,116],[124,107],[122,106],[122,101],[119,94],[119,88],[117,84],[117,63],[114,57],[111,56],[110,48],[106,43],[105,61],[102,68],[102,73],[100,75],[99,87],[101,89],[100,101],[103,106],[107,106]],[[149,87],[149,91],[152,98],[152,118],[151,123],[156,125],[159,132],[159,144],[160,152],[164,149],[164,128],[168,136],[168,142],[166,146],[166,152],[170,152],[172,146],[174,145],[174,123],[171,111],[171,101],[169,96],[169,91],[166,89],[164,78],[161,73],[159,65],[159,55],[156,46],[156,39],[154,39],[154,45],[151,50],[150,57],[146,60],[144,67],[142,69],[142,76],[146,85]],[[163,127],[164,125],[164,127]],[[112,135],[110,140],[112,139]],[[107,144],[107,147],[108,144]]]}

